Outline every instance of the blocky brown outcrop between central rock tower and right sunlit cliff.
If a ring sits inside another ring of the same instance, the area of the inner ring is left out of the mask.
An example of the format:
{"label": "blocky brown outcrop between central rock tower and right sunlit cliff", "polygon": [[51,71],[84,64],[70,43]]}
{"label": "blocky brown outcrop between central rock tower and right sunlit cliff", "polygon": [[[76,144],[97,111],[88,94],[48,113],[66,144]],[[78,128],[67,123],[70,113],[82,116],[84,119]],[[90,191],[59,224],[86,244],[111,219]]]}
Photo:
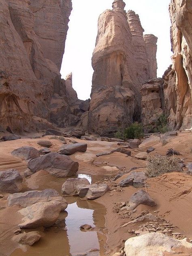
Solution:
{"label": "blocky brown outcrop between central rock tower and right sunlit cliff", "polygon": [[151,79],[141,87],[142,114],[141,120],[145,128],[154,128],[156,121],[163,113],[164,94],[163,79]]}

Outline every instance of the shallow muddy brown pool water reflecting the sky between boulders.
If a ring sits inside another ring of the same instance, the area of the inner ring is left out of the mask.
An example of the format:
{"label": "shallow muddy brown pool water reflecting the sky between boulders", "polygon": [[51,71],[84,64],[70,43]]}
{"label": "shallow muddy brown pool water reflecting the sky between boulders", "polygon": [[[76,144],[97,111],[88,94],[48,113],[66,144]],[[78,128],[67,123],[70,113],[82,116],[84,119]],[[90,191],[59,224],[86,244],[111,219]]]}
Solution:
{"label": "shallow muddy brown pool water reflecting the sky between boulders", "polygon": [[[90,182],[94,179],[94,177],[84,174],[79,174],[78,177],[85,177]],[[38,179],[38,185],[41,184],[38,188],[36,179]],[[53,176],[50,179],[49,175],[39,172],[36,177],[33,177],[33,180],[31,178],[28,180],[27,187],[29,188],[30,184],[32,189],[55,188],[61,192],[61,186],[65,180],[53,179]],[[32,247],[28,247],[27,251],[25,251],[25,247],[16,249],[11,256],[105,255],[107,209],[94,201],[83,201],[78,197],[66,197],[66,200],[68,207],[64,213],[60,214],[58,222],[49,229],[39,230],[42,239]],[[81,230],[80,226],[83,224],[90,224],[93,227],[92,230]]]}

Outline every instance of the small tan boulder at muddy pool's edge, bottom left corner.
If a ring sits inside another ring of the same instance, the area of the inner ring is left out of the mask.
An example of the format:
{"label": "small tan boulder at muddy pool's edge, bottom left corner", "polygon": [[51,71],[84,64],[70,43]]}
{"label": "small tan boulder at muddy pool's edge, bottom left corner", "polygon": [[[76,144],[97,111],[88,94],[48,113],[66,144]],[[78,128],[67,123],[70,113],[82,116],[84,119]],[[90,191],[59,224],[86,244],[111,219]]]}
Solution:
{"label": "small tan boulder at muddy pool's edge, bottom left corner", "polygon": [[17,243],[26,244],[26,245],[34,245],[34,243],[38,242],[41,239],[41,235],[38,231],[31,232],[23,232],[13,238]]}

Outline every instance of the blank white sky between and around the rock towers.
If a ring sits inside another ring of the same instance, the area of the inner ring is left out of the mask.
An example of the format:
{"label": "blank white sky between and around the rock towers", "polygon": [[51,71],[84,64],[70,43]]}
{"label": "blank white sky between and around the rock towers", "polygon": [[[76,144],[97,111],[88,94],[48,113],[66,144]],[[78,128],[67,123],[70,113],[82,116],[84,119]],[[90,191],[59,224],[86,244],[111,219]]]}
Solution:
{"label": "blank white sky between and around the rock towers", "polygon": [[[73,88],[79,99],[90,98],[93,69],[92,53],[97,36],[99,15],[112,9],[113,0],[72,0],[73,11],[70,15],[69,30],[61,67],[62,78],[73,73]],[[158,37],[158,77],[171,64],[170,42],[170,0],[124,0],[125,10],[139,14],[144,34]]]}

